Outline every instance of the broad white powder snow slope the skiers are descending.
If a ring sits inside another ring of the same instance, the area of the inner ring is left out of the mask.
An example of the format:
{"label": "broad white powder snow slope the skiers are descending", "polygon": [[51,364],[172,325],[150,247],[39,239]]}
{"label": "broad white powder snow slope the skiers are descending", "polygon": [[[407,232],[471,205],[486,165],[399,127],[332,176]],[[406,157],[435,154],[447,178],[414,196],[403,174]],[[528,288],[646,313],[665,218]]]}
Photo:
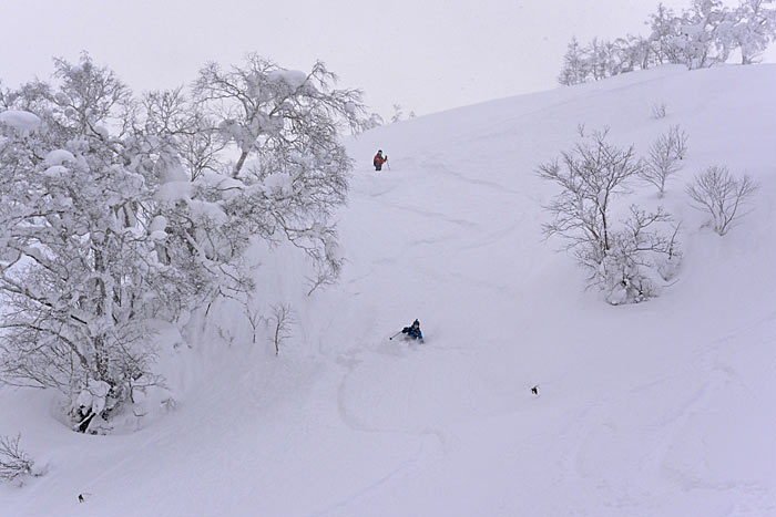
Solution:
{"label": "broad white powder snow slope the skiers are descending", "polygon": [[[774,66],[664,68],[353,139],[341,282],[308,298],[293,260],[265,259],[284,275],[263,292],[297,311],[280,355],[242,317],[211,322],[232,344],[176,349],[177,406],[127,435],[0,391],[0,434],[48,466],[0,487],[0,515],[776,515],[774,84]],[[661,200],[685,258],[649,303],[605,304],[542,239],[535,166],[578,124],[642,153],[690,135]],[[724,238],[684,194],[714,164],[760,185]],[[425,344],[388,339],[415,318]]]}

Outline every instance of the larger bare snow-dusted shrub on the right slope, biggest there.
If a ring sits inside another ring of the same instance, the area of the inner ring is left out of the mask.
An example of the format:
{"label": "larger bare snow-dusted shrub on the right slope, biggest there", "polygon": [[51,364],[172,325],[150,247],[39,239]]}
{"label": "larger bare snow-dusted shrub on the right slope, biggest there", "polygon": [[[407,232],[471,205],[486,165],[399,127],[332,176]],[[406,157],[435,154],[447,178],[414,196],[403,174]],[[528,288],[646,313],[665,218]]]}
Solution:
{"label": "larger bare snow-dusted shrub on the right slope, biggest there", "polygon": [[673,276],[678,250],[676,228],[671,237],[661,226],[671,223],[662,208],[646,213],[632,206],[630,217],[617,228],[612,203],[627,193],[626,184],[643,173],[643,161],[633,147],[619,148],[606,142],[606,132],[555,161],[539,166],[539,175],[561,186],[561,193],[545,208],[553,220],[544,234],[560,236],[566,249],[590,272],[590,286],[598,286],[613,304],[644,301],[658,292]]}

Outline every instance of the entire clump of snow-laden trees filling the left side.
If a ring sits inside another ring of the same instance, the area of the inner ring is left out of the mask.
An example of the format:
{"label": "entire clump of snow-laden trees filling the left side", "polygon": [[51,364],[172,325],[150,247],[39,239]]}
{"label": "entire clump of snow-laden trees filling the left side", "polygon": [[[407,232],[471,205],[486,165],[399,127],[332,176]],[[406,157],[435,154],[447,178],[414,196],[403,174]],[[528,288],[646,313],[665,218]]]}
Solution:
{"label": "entire clump of snow-laden trees filling the left side", "polygon": [[323,63],[211,63],[190,97],[142,102],[85,54],[55,70],[0,100],[0,379],[61,390],[94,431],[162,382],[152,319],[253,290],[252,239],[303,248],[315,286],[336,278],[340,121],[363,106]]}

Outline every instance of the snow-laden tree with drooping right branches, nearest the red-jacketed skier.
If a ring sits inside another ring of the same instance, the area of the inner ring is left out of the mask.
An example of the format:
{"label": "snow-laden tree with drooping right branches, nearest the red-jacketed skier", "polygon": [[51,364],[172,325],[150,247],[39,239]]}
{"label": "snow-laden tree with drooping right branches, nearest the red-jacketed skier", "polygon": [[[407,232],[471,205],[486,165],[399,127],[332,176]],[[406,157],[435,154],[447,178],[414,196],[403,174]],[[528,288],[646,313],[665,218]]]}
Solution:
{"label": "snow-laden tree with drooping right branches, nearest the red-jacketed skier", "polygon": [[345,203],[351,164],[339,142],[340,123],[355,130],[364,113],[361,93],[334,89],[336,80],[321,62],[305,73],[252,54],[229,70],[208,63],[192,93],[238,156],[227,164],[223,155],[228,175],[207,175],[198,187],[228,220],[210,234],[221,232],[217,240],[228,242],[222,248],[229,254],[253,235],[290,241],[315,261],[316,285],[336,278],[341,266],[330,219]]}

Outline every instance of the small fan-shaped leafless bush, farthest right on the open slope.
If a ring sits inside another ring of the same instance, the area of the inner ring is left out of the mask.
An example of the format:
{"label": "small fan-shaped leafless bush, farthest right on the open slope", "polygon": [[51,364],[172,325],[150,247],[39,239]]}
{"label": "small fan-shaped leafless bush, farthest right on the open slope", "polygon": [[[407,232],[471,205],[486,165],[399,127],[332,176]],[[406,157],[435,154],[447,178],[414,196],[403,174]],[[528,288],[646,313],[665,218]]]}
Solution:
{"label": "small fan-shaped leafless bush, farthest right on the open slope", "polygon": [[746,215],[742,208],[752,200],[757,185],[748,176],[734,177],[727,167],[712,166],[687,186],[694,207],[712,216],[712,227],[725,235]]}

